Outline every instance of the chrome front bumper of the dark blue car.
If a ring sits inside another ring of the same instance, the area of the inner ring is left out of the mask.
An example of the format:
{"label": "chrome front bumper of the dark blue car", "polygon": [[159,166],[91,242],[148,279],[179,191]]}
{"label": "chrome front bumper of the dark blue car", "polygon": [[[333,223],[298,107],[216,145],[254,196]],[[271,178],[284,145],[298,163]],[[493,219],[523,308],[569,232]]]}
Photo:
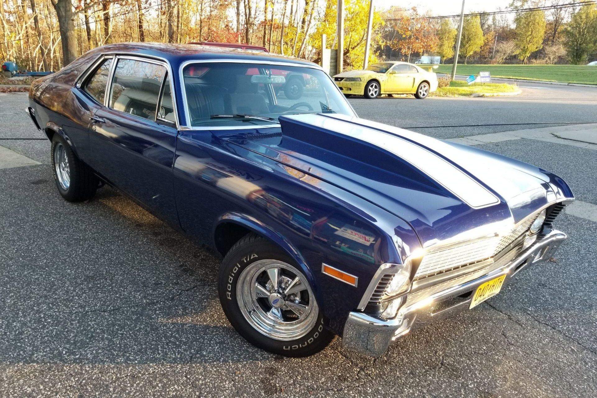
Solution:
{"label": "chrome front bumper of the dark blue car", "polygon": [[407,303],[394,319],[381,319],[352,311],[344,325],[342,345],[360,354],[380,356],[386,352],[392,341],[398,340],[414,328],[453,316],[469,308],[472,292],[482,283],[506,275],[506,285],[524,267],[553,257],[560,243],[567,237],[564,232],[552,230],[506,266],[469,282],[436,292],[416,303]]}

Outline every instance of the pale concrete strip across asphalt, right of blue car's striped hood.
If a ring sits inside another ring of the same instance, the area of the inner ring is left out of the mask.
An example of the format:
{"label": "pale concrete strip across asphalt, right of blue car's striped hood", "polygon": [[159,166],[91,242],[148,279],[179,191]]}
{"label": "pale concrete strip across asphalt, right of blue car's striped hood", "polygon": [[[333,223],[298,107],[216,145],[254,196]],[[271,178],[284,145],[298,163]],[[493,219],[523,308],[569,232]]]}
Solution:
{"label": "pale concrete strip across asphalt, right of blue car's striped hood", "polygon": [[[464,145],[481,145],[488,143],[498,143],[500,141],[527,140],[546,141],[563,145],[581,147],[584,149],[597,150],[597,144],[592,142],[580,141],[582,138],[597,136],[597,124],[576,124],[545,128],[530,128],[506,132],[492,132],[490,134],[469,135],[461,138],[450,138],[446,141]],[[560,138],[560,137],[566,137]],[[574,137],[574,138],[573,138]],[[592,140],[591,140],[592,141]]]}

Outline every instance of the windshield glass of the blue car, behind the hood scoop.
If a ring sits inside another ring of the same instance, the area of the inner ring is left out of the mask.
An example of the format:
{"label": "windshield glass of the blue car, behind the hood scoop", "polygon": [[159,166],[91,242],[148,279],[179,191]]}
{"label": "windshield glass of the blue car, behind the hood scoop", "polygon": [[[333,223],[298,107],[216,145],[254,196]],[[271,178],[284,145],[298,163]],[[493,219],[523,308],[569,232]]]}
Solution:
{"label": "windshield glass of the blue car, behind the hood scoop", "polygon": [[329,76],[310,67],[194,63],[183,78],[193,127],[274,125],[298,113],[355,116]]}

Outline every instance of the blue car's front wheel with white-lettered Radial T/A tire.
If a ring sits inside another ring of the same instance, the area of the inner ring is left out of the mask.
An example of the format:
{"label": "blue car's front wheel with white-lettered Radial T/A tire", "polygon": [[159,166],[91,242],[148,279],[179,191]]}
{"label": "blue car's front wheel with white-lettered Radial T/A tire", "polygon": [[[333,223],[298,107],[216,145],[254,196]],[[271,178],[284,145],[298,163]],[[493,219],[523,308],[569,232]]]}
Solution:
{"label": "blue car's front wheel with white-lettered Radial T/A tire", "polygon": [[330,344],[334,334],[306,276],[278,246],[250,233],[224,257],[220,303],[236,331],[274,354],[306,357]]}

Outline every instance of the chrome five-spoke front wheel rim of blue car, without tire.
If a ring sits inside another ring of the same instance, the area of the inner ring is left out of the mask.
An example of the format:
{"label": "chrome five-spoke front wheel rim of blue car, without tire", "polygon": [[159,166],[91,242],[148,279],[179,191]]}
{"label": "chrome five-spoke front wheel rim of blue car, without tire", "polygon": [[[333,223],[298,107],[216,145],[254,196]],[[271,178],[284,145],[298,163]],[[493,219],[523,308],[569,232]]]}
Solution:
{"label": "chrome five-spoke front wheel rim of blue car, without tire", "polygon": [[318,317],[318,307],[303,273],[278,260],[259,260],[242,271],[236,297],[247,322],[276,340],[306,335]]}

